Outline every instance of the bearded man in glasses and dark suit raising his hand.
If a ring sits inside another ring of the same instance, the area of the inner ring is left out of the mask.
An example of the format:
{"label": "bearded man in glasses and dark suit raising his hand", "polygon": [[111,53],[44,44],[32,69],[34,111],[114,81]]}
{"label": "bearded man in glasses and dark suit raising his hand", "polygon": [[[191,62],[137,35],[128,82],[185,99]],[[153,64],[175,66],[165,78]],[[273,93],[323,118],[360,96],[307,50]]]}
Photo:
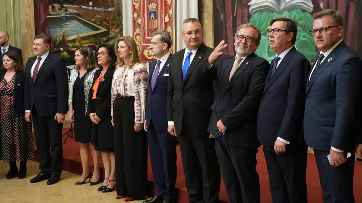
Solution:
{"label": "bearded man in glasses and dark suit raising his hand", "polygon": [[[215,150],[230,202],[260,202],[256,172],[256,118],[269,63],[255,55],[260,30],[247,23],[235,33],[236,56],[220,56],[228,45],[219,43],[204,66],[201,78],[216,79],[215,101],[207,131]],[[220,58],[219,58],[220,56]],[[219,58],[219,59],[218,59]],[[212,64],[212,66],[210,66]]]}

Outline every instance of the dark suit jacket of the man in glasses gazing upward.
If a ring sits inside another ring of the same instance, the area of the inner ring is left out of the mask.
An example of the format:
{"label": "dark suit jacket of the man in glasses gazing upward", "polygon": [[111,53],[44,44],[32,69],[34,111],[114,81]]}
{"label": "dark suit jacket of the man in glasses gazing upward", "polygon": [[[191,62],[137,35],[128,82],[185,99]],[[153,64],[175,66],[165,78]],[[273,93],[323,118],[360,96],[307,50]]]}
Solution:
{"label": "dark suit jacket of the man in glasses gazing upward", "polygon": [[273,63],[271,61],[258,112],[258,141],[270,147],[278,136],[290,144],[304,142],[303,136],[300,138],[310,62],[293,47],[269,81]]}

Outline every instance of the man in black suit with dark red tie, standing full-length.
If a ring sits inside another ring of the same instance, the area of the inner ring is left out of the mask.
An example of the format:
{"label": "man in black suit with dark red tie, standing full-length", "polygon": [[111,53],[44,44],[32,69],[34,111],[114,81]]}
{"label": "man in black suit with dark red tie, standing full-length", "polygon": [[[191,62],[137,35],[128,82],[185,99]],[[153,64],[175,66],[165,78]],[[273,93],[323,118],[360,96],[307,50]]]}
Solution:
{"label": "man in black suit with dark red tie, standing full-length", "polygon": [[25,118],[28,122],[33,121],[41,170],[30,182],[49,179],[48,185],[58,182],[62,173],[62,128],[68,109],[66,63],[49,52],[50,43],[51,38],[45,33],[35,36],[35,56],[28,59],[25,70],[28,81],[25,86]]}

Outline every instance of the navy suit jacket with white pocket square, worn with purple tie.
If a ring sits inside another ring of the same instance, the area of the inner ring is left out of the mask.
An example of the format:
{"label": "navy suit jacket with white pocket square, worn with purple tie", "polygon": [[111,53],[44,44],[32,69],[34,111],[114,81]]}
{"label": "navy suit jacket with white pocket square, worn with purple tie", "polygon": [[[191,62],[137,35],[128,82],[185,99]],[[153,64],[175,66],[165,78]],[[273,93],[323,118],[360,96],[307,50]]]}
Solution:
{"label": "navy suit jacket with white pocket square, worn with purple tie", "polygon": [[[166,63],[163,65],[161,72],[157,76],[155,87],[151,88],[151,80],[153,71],[156,68],[157,60],[150,63],[148,74],[148,91],[147,91],[147,106],[146,106],[146,119],[147,128],[150,126],[152,120],[153,128],[156,130],[167,131],[167,87],[168,75],[170,70],[171,56],[168,57]],[[166,76],[167,75],[167,76]]]}

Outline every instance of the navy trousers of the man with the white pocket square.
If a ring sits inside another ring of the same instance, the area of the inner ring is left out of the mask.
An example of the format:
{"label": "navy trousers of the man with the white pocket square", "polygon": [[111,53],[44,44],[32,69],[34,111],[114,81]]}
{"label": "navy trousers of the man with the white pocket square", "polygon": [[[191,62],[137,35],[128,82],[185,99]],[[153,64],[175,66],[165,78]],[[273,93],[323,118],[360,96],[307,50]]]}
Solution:
{"label": "navy trousers of the man with the white pocket square", "polygon": [[174,198],[177,177],[177,138],[165,130],[156,130],[151,121],[147,129],[147,140],[156,196]]}

